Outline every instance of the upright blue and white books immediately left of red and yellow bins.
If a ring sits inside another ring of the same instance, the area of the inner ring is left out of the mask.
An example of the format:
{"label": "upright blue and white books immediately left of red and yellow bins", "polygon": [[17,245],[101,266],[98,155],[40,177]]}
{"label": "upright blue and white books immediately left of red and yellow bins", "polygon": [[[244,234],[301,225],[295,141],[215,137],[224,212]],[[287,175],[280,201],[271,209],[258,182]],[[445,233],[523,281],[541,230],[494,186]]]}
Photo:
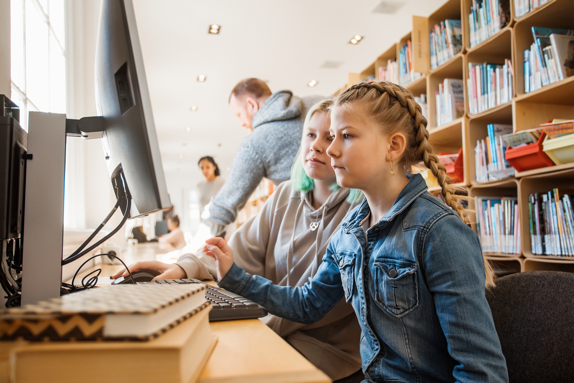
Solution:
{"label": "upright blue and white books immediately left of red and yellow bins", "polygon": [[502,136],[512,133],[512,125],[490,123],[488,136],[476,141],[474,163],[476,182],[487,182],[514,176],[514,168],[505,160],[506,145]]}

